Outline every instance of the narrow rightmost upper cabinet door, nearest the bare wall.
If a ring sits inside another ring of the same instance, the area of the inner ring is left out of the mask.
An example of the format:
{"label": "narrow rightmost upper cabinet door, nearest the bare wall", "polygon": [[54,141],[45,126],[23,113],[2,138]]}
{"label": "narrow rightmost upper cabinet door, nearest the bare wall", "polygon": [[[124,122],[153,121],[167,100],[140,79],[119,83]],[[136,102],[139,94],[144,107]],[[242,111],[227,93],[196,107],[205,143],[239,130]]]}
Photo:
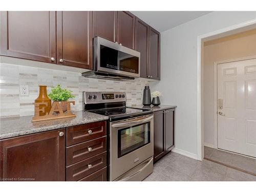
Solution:
{"label": "narrow rightmost upper cabinet door, nearest the bare wall", "polygon": [[150,28],[149,62],[147,75],[160,80],[160,33]]}

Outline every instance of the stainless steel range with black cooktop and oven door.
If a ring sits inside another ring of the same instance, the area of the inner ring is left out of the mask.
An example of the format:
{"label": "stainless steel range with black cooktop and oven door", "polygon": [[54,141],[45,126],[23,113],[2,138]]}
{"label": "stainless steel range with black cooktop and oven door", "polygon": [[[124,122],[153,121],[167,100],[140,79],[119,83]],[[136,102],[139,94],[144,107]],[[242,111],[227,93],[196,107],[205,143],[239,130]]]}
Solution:
{"label": "stainless steel range with black cooktop and oven door", "polygon": [[126,107],[125,92],[83,92],[85,111],[109,116],[109,180],[142,181],[153,172],[151,110]]}

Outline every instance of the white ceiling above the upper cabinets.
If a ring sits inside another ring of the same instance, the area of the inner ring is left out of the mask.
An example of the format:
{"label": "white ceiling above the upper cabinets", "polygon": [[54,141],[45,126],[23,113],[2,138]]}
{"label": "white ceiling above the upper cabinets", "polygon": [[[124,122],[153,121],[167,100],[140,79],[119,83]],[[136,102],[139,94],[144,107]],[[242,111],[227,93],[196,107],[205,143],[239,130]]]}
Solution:
{"label": "white ceiling above the upper cabinets", "polygon": [[131,11],[159,32],[189,22],[211,11]]}

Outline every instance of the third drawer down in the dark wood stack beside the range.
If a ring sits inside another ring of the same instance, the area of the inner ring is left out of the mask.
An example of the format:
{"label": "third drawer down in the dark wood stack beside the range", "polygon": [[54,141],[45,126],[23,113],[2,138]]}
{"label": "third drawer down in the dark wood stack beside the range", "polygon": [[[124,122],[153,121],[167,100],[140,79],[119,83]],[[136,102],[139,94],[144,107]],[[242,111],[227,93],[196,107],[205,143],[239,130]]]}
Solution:
{"label": "third drawer down in the dark wood stack beside the range", "polygon": [[[91,168],[89,168],[91,166]],[[67,181],[78,181],[106,166],[106,152],[66,167]]]}

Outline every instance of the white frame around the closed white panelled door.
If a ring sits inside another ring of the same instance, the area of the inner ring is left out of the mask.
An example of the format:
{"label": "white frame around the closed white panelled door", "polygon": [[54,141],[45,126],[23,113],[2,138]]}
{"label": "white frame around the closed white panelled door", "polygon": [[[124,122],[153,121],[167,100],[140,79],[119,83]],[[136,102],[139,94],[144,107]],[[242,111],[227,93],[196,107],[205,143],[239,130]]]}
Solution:
{"label": "white frame around the closed white panelled door", "polygon": [[218,148],[218,65],[250,59],[256,59],[256,55],[214,62],[214,148]]}

